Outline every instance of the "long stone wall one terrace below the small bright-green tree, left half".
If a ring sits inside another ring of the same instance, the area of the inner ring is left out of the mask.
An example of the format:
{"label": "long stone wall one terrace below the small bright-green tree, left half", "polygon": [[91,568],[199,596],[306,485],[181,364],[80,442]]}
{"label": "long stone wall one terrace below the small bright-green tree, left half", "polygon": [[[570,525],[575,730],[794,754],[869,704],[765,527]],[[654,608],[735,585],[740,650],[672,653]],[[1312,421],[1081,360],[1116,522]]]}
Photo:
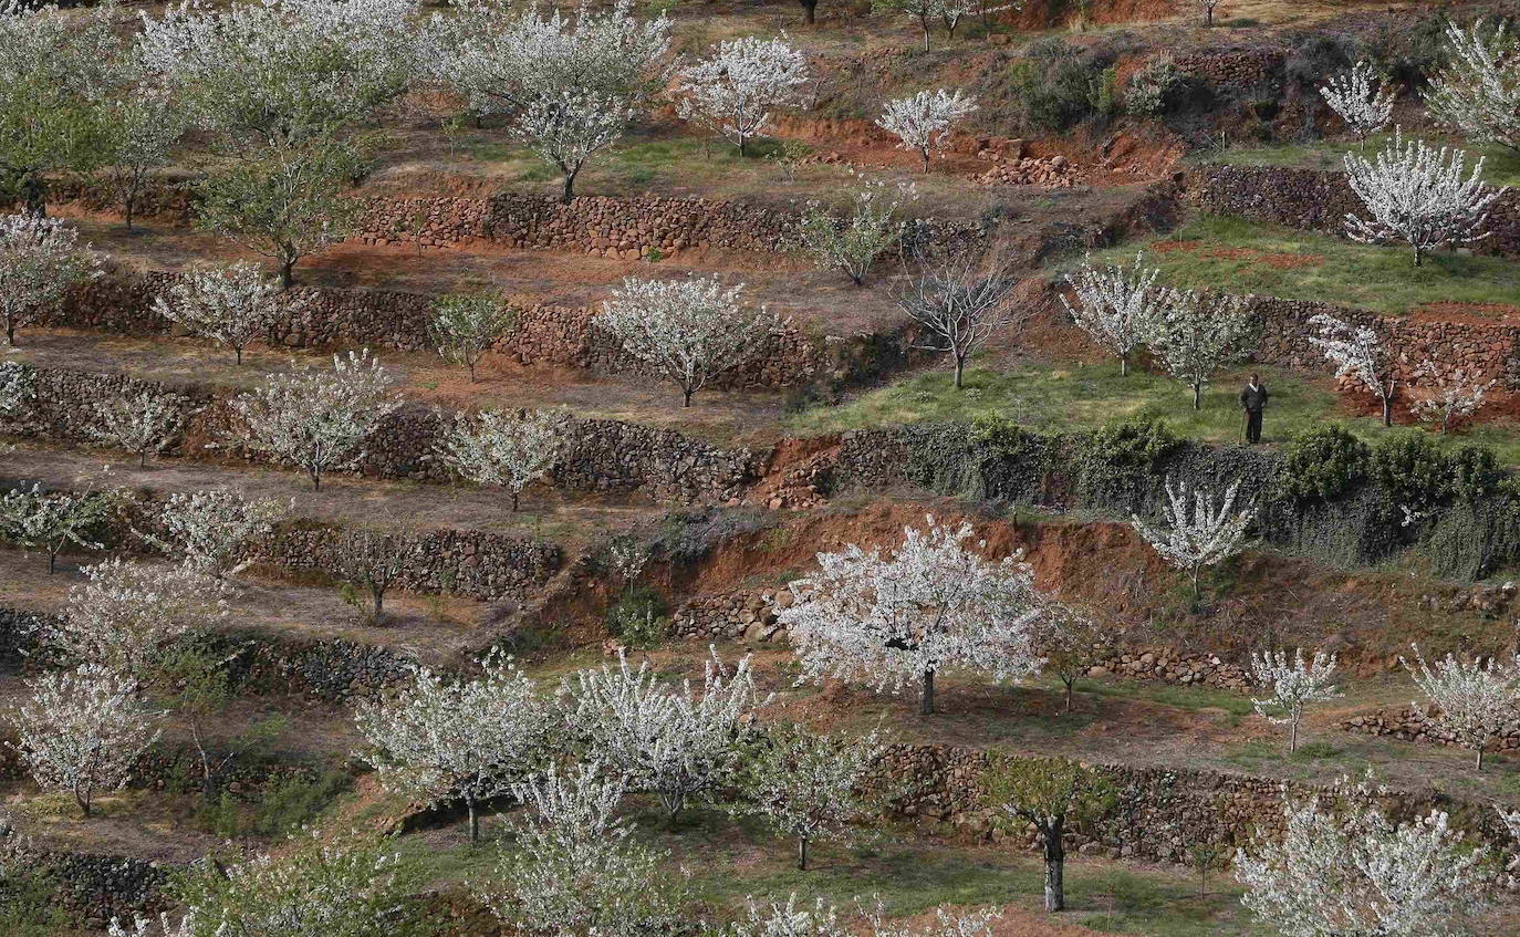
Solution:
{"label": "long stone wall one terrace below the small bright-green tree, left half", "polygon": [[[20,435],[88,443],[94,402],[111,394],[147,389],[184,397],[185,432],[167,452],[193,458],[236,458],[220,446],[228,424],[226,389],[204,385],[169,385],[125,374],[70,368],[33,370],[36,397]],[[374,478],[454,481],[433,458],[435,443],[450,414],[406,405],[375,430],[359,472]],[[550,470],[553,484],[570,491],[641,491],[669,502],[731,502],[758,478],[765,453],[722,449],[681,435],[617,420],[565,420],[562,449]]]}

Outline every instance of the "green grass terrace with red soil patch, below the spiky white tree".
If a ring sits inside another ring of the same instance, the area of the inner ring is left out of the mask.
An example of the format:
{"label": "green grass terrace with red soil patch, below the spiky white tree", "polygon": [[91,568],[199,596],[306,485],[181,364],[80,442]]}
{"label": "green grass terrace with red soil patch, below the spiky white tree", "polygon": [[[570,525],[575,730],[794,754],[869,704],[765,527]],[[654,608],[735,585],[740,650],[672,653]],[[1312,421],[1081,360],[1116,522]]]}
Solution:
{"label": "green grass terrace with red soil patch, below the spiky white tree", "polygon": [[[1505,257],[1441,249],[1415,266],[1406,246],[1351,243],[1218,214],[1198,216],[1142,246],[1146,263],[1158,268],[1169,286],[1318,300],[1392,315],[1427,303],[1520,306],[1520,265]],[[1134,254],[1135,246],[1126,245],[1093,259],[1117,263]]]}

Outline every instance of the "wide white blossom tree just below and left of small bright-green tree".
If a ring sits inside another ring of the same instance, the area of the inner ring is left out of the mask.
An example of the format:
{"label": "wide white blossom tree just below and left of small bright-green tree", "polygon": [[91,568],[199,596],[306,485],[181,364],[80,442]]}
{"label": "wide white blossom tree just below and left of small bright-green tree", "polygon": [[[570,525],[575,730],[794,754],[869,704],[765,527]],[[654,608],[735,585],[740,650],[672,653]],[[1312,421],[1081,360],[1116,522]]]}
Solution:
{"label": "wide white blossom tree just below and left of small bright-green tree", "polygon": [[298,465],[321,488],[324,472],[363,459],[365,440],[401,406],[391,385],[391,374],[368,348],[334,354],[331,371],[293,367],[271,374],[261,388],[230,402],[237,424],[228,440]]}

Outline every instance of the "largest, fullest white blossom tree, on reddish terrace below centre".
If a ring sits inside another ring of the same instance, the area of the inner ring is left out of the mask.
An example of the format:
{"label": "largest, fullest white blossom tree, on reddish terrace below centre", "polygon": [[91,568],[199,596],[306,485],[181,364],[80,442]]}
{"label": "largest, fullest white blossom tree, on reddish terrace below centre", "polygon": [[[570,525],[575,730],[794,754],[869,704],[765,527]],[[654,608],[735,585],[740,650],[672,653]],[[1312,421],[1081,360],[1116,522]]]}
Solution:
{"label": "largest, fullest white blossom tree, on reddish terrace below centre", "polygon": [[985,560],[967,548],[970,537],[970,523],[929,517],[886,555],[857,545],[818,554],[818,572],[793,581],[795,601],[777,610],[801,663],[798,680],[833,677],[892,692],[918,683],[920,713],[930,715],[944,669],[994,680],[1038,672],[1040,601],[1029,567],[1017,555]]}

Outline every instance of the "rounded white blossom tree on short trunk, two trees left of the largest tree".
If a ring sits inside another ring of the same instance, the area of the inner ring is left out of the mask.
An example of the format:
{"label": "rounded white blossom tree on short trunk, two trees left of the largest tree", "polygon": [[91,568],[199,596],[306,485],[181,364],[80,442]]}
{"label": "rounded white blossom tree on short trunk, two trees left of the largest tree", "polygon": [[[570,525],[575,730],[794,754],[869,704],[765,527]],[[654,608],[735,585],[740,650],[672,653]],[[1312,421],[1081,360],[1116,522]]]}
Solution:
{"label": "rounded white blossom tree on short trunk, two trees left of the largest tree", "polygon": [[540,768],[555,726],[538,686],[500,654],[473,680],[420,666],[395,697],[362,701],[354,719],[369,744],[360,758],[386,789],[430,808],[462,800],[471,843],[480,838],[480,805]]}

